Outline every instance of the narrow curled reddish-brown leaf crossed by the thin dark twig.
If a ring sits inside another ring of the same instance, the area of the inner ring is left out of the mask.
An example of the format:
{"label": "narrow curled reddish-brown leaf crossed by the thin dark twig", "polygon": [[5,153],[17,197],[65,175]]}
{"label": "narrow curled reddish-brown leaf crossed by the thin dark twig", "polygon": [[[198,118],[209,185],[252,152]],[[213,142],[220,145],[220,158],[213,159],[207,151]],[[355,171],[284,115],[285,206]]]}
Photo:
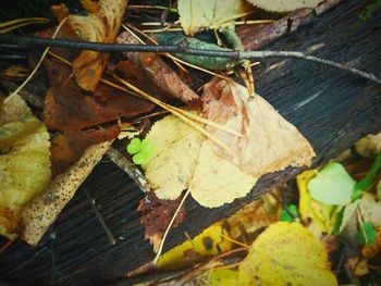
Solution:
{"label": "narrow curled reddish-brown leaf crossed by the thin dark twig", "polygon": [[[139,45],[130,33],[123,32],[115,40],[118,43]],[[177,74],[153,52],[124,52],[124,54],[161,89],[185,103],[200,103],[200,98],[193,91]]]}

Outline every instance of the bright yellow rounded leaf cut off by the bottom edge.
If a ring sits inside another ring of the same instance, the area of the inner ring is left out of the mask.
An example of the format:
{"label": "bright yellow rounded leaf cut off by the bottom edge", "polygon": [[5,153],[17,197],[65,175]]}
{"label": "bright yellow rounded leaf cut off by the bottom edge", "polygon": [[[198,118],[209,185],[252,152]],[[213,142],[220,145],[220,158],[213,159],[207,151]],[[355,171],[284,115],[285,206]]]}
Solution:
{"label": "bright yellow rounded leaf cut off by the bottom edge", "polygon": [[337,285],[323,245],[298,223],[270,225],[239,264],[241,285]]}

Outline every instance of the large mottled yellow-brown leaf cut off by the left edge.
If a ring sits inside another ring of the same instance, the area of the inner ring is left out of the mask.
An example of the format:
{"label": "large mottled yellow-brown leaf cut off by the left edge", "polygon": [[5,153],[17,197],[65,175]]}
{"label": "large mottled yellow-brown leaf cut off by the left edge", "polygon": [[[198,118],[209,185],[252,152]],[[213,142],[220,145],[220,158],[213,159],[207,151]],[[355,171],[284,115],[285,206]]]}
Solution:
{"label": "large mottled yellow-brown leaf cut off by the left edge", "polygon": [[13,95],[0,105],[0,234],[14,238],[23,208],[50,182],[49,134]]}

